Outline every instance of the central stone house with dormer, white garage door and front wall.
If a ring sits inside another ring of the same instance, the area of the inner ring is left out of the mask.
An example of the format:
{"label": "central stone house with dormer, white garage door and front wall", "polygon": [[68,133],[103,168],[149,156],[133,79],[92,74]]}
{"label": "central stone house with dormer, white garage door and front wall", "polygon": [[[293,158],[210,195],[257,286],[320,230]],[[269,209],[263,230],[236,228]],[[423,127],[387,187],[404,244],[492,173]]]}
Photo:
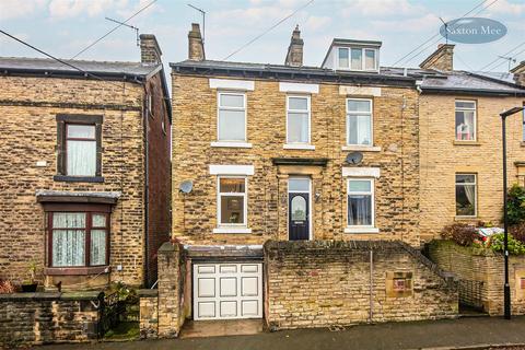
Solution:
{"label": "central stone house with dormer, white garage door and front wall", "polygon": [[171,63],[180,246],[162,249],[159,334],[186,316],[277,329],[454,317],[454,283],[417,250],[423,73],[341,38],[305,67],[299,27],[284,65],[206,59],[197,24],[188,40]]}

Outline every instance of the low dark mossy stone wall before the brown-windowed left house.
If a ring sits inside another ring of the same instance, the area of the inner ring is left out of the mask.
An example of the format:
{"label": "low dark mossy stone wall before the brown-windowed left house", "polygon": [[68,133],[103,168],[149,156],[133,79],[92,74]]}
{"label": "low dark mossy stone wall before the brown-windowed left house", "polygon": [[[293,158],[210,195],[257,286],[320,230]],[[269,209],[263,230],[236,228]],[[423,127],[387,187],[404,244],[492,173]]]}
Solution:
{"label": "low dark mossy stone wall before the brown-windowed left house", "polygon": [[0,349],[97,339],[102,292],[0,294]]}

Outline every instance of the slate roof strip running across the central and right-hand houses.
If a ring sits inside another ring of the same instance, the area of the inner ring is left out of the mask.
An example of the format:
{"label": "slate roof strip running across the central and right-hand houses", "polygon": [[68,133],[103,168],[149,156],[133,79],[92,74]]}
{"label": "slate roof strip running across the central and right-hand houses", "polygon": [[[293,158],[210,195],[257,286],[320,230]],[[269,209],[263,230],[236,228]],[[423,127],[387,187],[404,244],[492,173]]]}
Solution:
{"label": "slate roof strip running across the central and right-hand houses", "polygon": [[[185,60],[170,63],[176,71],[199,72],[205,74],[221,73],[236,77],[301,78],[331,82],[348,80],[365,84],[366,82],[404,81],[404,85],[415,86],[421,83],[423,92],[454,92],[465,94],[525,95],[525,88],[516,85],[509,73],[486,73],[452,71],[442,72],[432,69],[381,67],[380,73],[332,70],[319,67],[290,67],[284,65],[265,65],[203,60]],[[352,82],[350,81],[350,82]],[[407,84],[408,83],[408,84]]]}

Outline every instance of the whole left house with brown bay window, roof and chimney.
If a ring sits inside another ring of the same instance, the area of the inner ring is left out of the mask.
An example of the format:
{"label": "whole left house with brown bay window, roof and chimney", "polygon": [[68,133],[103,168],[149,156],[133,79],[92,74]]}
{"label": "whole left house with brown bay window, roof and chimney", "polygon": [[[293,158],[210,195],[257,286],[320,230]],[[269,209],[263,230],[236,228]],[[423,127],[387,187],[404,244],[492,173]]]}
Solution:
{"label": "whole left house with brown bay window, roof and chimney", "polygon": [[35,262],[48,290],[155,282],[171,101],[155,37],[140,49],[140,62],[0,58],[0,278]]}

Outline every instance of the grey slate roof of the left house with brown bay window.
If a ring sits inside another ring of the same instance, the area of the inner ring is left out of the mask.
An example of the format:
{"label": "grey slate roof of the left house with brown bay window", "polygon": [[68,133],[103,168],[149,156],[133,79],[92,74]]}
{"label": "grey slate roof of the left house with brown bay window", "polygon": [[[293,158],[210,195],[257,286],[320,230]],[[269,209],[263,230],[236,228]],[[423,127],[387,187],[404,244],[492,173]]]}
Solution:
{"label": "grey slate roof of the left house with brown bay window", "polygon": [[[115,62],[115,61],[85,61],[85,60],[63,60],[72,66],[80,68],[89,73],[107,77],[137,77],[147,79],[150,74],[162,69],[162,65],[143,65],[141,62]],[[0,57],[0,72],[13,73],[70,73],[82,75],[83,73],[72,67],[60,63],[48,58],[27,58],[27,57]]]}

